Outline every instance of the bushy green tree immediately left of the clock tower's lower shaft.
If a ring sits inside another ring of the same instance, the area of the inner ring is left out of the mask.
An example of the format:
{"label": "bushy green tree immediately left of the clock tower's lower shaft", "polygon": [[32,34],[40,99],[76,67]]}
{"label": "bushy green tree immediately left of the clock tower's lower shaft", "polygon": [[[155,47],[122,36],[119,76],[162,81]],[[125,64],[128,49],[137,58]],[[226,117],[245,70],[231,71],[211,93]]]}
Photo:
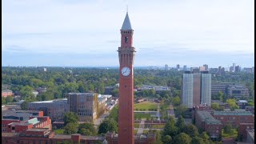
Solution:
{"label": "bushy green tree immediately left of the clock tower's lower shaft", "polygon": [[98,126],[98,134],[106,134],[108,131],[118,131],[118,123],[112,118],[106,118]]}

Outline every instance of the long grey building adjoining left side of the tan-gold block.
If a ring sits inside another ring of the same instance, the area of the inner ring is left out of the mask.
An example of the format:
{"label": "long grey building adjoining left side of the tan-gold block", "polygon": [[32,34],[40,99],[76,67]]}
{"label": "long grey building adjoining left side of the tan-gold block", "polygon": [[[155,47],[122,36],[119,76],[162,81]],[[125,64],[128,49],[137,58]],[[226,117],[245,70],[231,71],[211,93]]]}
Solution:
{"label": "long grey building adjoining left side of the tan-gold block", "polygon": [[29,102],[28,110],[42,110],[43,114],[49,116],[53,122],[63,121],[64,114],[70,111],[67,98],[42,102]]}

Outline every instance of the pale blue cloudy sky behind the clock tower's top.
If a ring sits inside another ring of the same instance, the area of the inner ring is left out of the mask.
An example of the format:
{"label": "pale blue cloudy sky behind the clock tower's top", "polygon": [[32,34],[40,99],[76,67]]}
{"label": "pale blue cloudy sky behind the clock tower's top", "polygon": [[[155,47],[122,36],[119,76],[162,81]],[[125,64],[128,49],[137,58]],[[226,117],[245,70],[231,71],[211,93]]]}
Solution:
{"label": "pale blue cloudy sky behind the clock tower's top", "polygon": [[2,66],[254,66],[254,0],[2,0]]}

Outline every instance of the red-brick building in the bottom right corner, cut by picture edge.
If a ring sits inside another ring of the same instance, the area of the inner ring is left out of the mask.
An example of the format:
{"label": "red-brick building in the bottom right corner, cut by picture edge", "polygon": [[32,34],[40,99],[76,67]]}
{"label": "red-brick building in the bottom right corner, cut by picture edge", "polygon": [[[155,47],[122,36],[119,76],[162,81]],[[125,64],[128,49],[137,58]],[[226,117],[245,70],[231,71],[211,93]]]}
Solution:
{"label": "red-brick building in the bottom right corner, cut by picture edge", "polygon": [[254,123],[239,123],[238,125],[238,139],[246,142],[247,130],[254,130]]}

